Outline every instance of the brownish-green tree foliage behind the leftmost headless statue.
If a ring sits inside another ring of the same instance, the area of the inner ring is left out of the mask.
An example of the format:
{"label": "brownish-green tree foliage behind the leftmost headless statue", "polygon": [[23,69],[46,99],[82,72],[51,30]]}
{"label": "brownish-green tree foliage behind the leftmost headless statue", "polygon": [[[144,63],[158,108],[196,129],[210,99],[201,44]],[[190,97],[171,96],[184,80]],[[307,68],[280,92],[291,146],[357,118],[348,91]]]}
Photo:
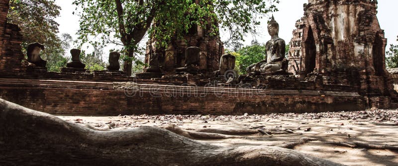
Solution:
{"label": "brownish-green tree foliage behind the leftmost headless statue", "polygon": [[68,61],[63,55],[69,49],[72,38],[69,34],[58,36],[59,24],[54,20],[61,7],[54,0],[10,0],[7,15],[9,23],[21,28],[22,51],[26,52],[29,43],[44,44],[43,59],[47,60],[49,71],[59,72]]}

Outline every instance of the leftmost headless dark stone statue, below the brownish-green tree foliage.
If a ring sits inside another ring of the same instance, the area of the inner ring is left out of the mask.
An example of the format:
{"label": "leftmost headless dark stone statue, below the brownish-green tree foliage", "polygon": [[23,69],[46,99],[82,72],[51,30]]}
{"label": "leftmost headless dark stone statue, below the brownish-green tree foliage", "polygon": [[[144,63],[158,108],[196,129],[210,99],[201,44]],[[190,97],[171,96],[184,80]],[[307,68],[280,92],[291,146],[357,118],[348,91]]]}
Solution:
{"label": "leftmost headless dark stone statue, below the brownish-green tree foliage", "polygon": [[28,57],[28,62],[36,65],[37,67],[43,67],[45,68],[47,65],[47,61],[41,59],[40,57],[40,52],[41,50],[44,50],[44,45],[40,43],[31,43],[27,47],[27,57]]}

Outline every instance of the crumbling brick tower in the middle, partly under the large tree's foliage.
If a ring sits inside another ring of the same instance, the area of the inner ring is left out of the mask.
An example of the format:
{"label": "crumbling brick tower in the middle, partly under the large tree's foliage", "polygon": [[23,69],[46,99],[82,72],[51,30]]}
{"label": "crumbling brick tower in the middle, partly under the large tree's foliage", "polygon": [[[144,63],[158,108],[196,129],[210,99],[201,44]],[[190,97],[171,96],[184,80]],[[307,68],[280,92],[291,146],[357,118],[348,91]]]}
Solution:
{"label": "crumbling brick tower in the middle, partly under the large tree's foliage", "polygon": [[[196,1],[199,3],[199,0]],[[176,68],[185,65],[185,50],[188,47],[200,48],[199,70],[204,74],[209,74],[218,70],[220,58],[224,54],[224,46],[221,42],[219,32],[213,33],[209,27],[212,21],[204,22],[205,26],[194,25],[183,37],[182,40],[172,39],[167,48],[156,46],[156,40],[150,39],[147,42],[145,63],[149,64],[150,56],[154,53],[160,54],[159,64],[162,71],[168,74],[175,74]],[[216,34],[216,35],[213,35]]]}

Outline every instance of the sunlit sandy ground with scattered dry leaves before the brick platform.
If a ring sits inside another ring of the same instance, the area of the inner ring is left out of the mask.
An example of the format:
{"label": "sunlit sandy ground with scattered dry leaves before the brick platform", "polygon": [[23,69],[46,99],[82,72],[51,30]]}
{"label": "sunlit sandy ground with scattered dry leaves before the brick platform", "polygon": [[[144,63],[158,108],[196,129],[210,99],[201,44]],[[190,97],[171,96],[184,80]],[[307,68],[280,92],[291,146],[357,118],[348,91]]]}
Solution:
{"label": "sunlit sandy ground with scattered dry leaves before the brick platform", "polygon": [[[390,150],[352,149],[322,142],[362,142],[398,146],[398,110],[366,110],[335,113],[285,113],[267,115],[119,115],[114,117],[59,116],[60,118],[93,126],[114,123],[116,127],[164,127],[169,123],[184,129],[218,128],[247,129],[257,126],[293,129],[302,133],[268,137],[255,134],[239,139],[199,140],[219,146],[267,145],[296,142],[302,137],[319,141],[298,145],[302,153],[349,166],[398,166],[398,152]],[[310,128],[310,131],[305,131]]]}

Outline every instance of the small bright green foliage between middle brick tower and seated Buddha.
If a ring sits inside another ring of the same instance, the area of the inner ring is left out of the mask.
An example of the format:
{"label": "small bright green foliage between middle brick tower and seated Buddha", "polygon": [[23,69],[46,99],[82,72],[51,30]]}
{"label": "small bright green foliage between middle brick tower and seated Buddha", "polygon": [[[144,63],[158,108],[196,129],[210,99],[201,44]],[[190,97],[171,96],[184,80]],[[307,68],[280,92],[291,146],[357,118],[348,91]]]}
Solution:
{"label": "small bright green foliage between middle brick tower and seated Buddha", "polygon": [[236,70],[239,74],[246,73],[246,68],[251,64],[255,64],[265,59],[265,45],[257,41],[253,41],[250,46],[239,49],[236,53],[232,53],[236,57]]}

